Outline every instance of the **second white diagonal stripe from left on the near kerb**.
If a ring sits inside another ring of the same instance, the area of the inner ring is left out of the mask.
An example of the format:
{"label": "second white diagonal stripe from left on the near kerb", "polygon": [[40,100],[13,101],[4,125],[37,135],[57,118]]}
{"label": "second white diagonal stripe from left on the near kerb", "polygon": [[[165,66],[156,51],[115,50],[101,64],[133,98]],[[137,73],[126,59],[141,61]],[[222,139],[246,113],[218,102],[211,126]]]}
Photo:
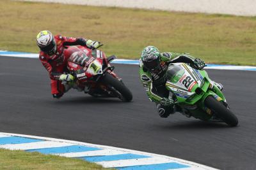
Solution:
{"label": "second white diagonal stripe from left on the near kerb", "polygon": [[60,153],[54,154],[59,155],[61,157],[91,157],[91,156],[102,156],[102,155],[118,155],[127,152],[122,152],[118,150],[95,150],[95,151],[88,151],[88,152],[74,152],[74,153]]}

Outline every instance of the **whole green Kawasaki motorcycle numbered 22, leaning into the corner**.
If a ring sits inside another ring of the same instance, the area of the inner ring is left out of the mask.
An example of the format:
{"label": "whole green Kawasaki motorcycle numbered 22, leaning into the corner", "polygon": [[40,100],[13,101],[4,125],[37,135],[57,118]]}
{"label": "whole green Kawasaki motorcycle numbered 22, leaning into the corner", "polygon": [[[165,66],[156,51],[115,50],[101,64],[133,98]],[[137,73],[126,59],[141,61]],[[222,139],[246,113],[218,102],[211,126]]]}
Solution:
{"label": "whole green Kawasaki motorcycle numbered 22, leaning into the corner", "polygon": [[224,95],[206,71],[193,69],[184,63],[172,63],[168,66],[166,77],[166,89],[172,92],[175,105],[184,115],[237,126],[236,115],[229,110]]}

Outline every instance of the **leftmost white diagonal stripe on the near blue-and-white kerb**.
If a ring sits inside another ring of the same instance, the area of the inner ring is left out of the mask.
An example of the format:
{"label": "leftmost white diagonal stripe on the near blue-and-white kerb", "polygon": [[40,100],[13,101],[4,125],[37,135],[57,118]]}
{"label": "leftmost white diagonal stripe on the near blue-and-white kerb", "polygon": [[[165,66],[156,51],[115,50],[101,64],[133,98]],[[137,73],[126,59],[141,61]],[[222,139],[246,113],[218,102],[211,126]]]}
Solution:
{"label": "leftmost white diagonal stripe on the near blue-and-white kerb", "polygon": [[33,143],[0,145],[0,148],[5,148],[9,150],[33,150],[33,149],[53,148],[53,147],[71,146],[71,145],[74,145],[74,144],[56,142],[56,141],[39,141],[39,142],[33,142]]}

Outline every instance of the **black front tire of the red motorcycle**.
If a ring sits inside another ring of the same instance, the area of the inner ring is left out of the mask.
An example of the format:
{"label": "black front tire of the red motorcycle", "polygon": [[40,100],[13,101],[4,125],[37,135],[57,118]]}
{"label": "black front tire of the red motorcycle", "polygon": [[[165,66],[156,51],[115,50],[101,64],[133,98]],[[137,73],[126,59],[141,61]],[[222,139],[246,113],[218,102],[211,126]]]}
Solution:
{"label": "black front tire of the red motorcycle", "polygon": [[106,73],[105,76],[101,79],[102,83],[106,83],[111,87],[114,87],[121,94],[121,100],[125,102],[132,101],[132,93],[131,91],[122,83],[122,81],[117,80],[111,74]]}

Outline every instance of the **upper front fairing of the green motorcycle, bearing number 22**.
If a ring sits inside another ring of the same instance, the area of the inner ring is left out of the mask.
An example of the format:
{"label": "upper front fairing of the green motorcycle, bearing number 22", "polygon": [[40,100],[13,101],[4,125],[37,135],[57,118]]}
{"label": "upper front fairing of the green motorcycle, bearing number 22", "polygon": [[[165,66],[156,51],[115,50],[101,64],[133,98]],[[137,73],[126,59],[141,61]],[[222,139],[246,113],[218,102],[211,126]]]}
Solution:
{"label": "upper front fairing of the green motorcycle, bearing number 22", "polygon": [[[184,63],[172,65],[174,67],[179,66],[180,69],[171,79],[166,81],[166,88],[175,94],[178,103],[195,104],[202,98],[204,101],[205,93],[211,94],[209,91],[214,92],[225,101],[222,92],[214,86],[206,71],[193,69]],[[211,90],[209,90],[210,86],[212,86]]]}

